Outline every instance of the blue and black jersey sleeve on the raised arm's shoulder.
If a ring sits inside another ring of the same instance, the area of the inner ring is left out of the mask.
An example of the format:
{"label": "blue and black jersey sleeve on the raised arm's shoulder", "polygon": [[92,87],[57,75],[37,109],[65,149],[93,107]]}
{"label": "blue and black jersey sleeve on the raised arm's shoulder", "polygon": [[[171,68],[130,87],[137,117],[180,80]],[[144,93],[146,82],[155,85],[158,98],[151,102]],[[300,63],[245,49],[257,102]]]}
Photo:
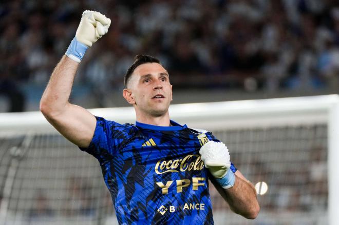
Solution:
{"label": "blue and black jersey sleeve on the raised arm's shoulder", "polygon": [[96,129],[89,146],[87,148],[79,148],[81,151],[95,156],[102,163],[109,160],[115,154],[115,128],[120,124],[102,117],[96,116],[96,119]]}

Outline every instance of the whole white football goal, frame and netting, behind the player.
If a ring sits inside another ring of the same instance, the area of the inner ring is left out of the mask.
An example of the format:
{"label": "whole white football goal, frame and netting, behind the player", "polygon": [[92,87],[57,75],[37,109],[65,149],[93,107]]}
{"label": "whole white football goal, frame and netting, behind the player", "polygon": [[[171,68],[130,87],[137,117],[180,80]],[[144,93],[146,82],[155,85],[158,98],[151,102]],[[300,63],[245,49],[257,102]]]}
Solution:
{"label": "whole white football goal, frame and netting, behind the player", "polygon": [[[133,108],[92,109],[120,123]],[[170,107],[180,124],[206,129],[256,185],[260,213],[231,212],[210,184],[215,224],[336,224],[339,96]],[[0,114],[0,225],[117,224],[98,161],[58,134],[40,112]]]}

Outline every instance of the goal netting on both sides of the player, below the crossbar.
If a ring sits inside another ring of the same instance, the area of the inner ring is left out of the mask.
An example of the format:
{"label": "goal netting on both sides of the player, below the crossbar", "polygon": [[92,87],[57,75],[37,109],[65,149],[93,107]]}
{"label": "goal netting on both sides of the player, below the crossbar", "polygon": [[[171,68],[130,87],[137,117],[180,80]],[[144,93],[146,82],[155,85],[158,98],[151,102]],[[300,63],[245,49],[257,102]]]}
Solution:
{"label": "goal netting on both sides of the player, below the crossbar", "polygon": [[[210,184],[215,224],[327,224],[325,124],[213,134],[244,176],[268,185],[247,220]],[[59,134],[29,135],[0,138],[2,224],[117,224],[98,161]]]}

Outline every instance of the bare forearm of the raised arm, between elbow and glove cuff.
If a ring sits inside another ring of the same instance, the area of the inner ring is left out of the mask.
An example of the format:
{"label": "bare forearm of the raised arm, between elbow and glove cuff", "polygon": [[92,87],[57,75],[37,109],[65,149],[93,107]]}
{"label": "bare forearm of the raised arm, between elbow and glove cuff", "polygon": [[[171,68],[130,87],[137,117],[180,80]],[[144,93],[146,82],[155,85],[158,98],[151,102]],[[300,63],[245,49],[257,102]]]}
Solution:
{"label": "bare forearm of the raised arm, between elbow and glove cuff", "polygon": [[79,63],[64,55],[56,65],[40,101],[42,112],[58,113],[68,104]]}

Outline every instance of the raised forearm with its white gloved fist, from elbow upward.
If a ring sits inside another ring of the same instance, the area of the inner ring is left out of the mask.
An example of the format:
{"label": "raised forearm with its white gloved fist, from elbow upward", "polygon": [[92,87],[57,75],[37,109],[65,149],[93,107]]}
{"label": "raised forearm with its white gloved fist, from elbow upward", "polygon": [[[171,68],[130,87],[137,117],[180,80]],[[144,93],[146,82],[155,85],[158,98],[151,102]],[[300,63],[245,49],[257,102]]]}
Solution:
{"label": "raised forearm with its white gloved fist, from elbow upward", "polygon": [[86,50],[106,34],[110,19],[100,12],[85,10],[68,49],[56,65],[40,101],[40,110],[49,116],[58,115],[68,106],[74,76]]}

